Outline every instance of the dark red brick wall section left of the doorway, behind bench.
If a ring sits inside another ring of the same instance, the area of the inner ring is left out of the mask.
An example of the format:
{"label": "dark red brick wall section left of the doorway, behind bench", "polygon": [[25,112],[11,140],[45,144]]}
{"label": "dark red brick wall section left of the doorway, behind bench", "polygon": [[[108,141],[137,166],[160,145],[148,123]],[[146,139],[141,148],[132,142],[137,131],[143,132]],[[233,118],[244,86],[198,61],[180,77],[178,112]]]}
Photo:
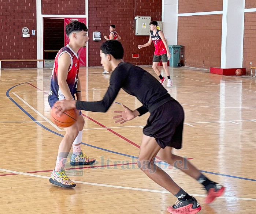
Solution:
{"label": "dark red brick wall section left of the doorway, behind bench", "polygon": [[[36,59],[36,0],[1,0],[0,59]],[[29,38],[22,37],[22,28],[29,28]],[[2,68],[35,68],[37,62],[2,62]]]}

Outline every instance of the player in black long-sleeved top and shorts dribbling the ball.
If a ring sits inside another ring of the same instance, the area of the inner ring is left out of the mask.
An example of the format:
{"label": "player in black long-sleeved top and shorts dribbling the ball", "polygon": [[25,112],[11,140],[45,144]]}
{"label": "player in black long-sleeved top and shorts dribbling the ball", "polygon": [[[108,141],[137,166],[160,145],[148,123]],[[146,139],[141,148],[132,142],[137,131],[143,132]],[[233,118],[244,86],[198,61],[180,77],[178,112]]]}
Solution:
{"label": "player in black long-sleeved top and shorts dribbling the ball", "polygon": [[138,66],[123,62],[123,47],[120,42],[116,40],[104,42],[100,47],[100,57],[100,63],[104,69],[113,70],[104,98],[95,102],[61,100],[57,102],[59,108],[57,115],[60,115],[61,111],[71,108],[106,112],[122,88],[125,92],[135,96],[142,106],[132,111],[122,105],[125,111],[115,111],[119,113],[114,116],[114,118],[118,118],[115,122],[122,124],[150,112],[148,121],[143,128],[138,167],[153,181],[177,197],[177,204],[168,207],[168,212],[195,214],[201,210],[201,206],[166,172],[155,165],[156,156],[168,164],[176,165],[176,167],[178,167],[177,164],[180,164],[178,168],[181,171],[202,184],[207,190],[206,203],[211,203],[216,197],[221,196],[225,190],[222,185],[209,180],[185,158],[173,154],[173,148],[181,149],[182,147],[184,111],[181,104],[173,99],[150,73]]}

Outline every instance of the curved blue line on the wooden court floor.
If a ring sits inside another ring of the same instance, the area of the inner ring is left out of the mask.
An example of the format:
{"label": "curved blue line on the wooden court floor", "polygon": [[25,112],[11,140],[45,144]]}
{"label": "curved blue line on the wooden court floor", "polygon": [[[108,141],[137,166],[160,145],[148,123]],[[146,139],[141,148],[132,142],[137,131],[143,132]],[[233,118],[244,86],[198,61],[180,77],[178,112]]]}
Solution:
{"label": "curved blue line on the wooden court floor", "polygon": [[[33,80],[33,81],[36,81],[36,80]],[[26,83],[30,83],[30,82],[33,82],[33,81],[28,81],[28,82],[26,82]],[[21,84],[18,84],[18,85],[22,85],[22,84],[25,84],[25,83],[21,83]],[[42,125],[40,122],[37,122],[37,120],[36,120],[35,118],[33,118],[33,116],[31,116],[24,108],[22,108],[18,103],[16,103],[16,102],[10,97],[9,92],[11,91],[12,88],[15,88],[15,87],[18,86],[18,85],[15,85],[15,86],[9,88],[9,89],[7,90],[7,92],[5,93],[6,96],[7,96],[16,106],[18,106],[27,116],[29,116],[29,118],[30,118],[31,120],[33,120],[34,122],[36,122],[37,125],[41,126],[42,128],[46,129],[47,131],[50,131],[50,132],[53,133],[53,134],[59,135],[60,137],[64,137],[62,134],[59,134],[59,133],[57,133],[57,132],[55,132],[55,131],[53,131],[53,130],[51,130],[51,129],[48,129],[47,127],[45,127],[44,125]],[[117,102],[115,102],[115,103],[117,103]],[[120,103],[118,103],[118,104],[120,104]],[[90,145],[90,144],[85,144],[85,143],[83,143],[83,142],[81,142],[81,144],[84,144],[84,145],[86,145],[86,146],[90,146],[90,147],[92,147],[92,148],[104,150],[104,151],[106,151],[106,152],[111,152],[111,153],[115,153],[115,154],[120,154],[120,155],[122,155],[122,156],[132,157],[132,158],[137,158],[137,159],[138,159],[138,157],[135,157],[135,156],[131,156],[131,155],[123,154],[123,153],[119,153],[119,152],[114,152],[114,151],[112,151],[112,150],[103,149],[103,148],[100,148],[100,147],[97,147],[97,146],[93,146],[93,145]],[[158,164],[168,165],[168,164],[166,164],[166,163],[161,163],[161,162],[158,162]],[[233,176],[233,175],[225,175],[225,174],[220,174],[220,173],[215,173],[215,172],[208,172],[208,171],[203,171],[203,170],[200,170],[200,172],[204,172],[204,173],[208,173],[208,174],[214,174],[214,175],[220,175],[220,176],[225,176],[225,177],[233,177],[233,178],[242,179],[242,180],[256,181],[255,179],[249,179],[249,178],[238,177],[238,176]]]}

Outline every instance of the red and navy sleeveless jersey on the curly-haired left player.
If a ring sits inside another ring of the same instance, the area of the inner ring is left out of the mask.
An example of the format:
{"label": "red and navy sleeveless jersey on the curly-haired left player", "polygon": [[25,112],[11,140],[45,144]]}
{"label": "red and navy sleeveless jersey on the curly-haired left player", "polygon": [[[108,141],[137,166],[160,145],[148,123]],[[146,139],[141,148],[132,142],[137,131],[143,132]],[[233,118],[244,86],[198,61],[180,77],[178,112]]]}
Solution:
{"label": "red and navy sleeveless jersey on the curly-haired left player", "polygon": [[68,45],[63,47],[59,50],[57,53],[54,65],[52,69],[52,77],[51,77],[51,89],[49,92],[49,101],[56,102],[57,100],[63,100],[65,99],[63,93],[60,91],[60,87],[58,85],[58,61],[63,53],[68,53],[71,58],[71,65],[68,69],[67,74],[67,84],[70,89],[70,92],[72,96],[74,97],[75,91],[77,89],[77,81],[78,81],[78,72],[79,72],[79,57],[78,54],[75,54],[75,52],[69,47]]}

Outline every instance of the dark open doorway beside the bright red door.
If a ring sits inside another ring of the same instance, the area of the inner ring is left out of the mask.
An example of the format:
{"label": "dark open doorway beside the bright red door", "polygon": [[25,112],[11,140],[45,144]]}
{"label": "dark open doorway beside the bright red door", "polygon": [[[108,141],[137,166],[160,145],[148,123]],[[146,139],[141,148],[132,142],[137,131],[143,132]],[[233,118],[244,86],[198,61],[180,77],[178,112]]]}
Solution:
{"label": "dark open doorway beside the bright red door", "polygon": [[[44,19],[44,50],[59,50],[63,46],[64,19]],[[56,54],[47,53],[45,59],[54,59]]]}

